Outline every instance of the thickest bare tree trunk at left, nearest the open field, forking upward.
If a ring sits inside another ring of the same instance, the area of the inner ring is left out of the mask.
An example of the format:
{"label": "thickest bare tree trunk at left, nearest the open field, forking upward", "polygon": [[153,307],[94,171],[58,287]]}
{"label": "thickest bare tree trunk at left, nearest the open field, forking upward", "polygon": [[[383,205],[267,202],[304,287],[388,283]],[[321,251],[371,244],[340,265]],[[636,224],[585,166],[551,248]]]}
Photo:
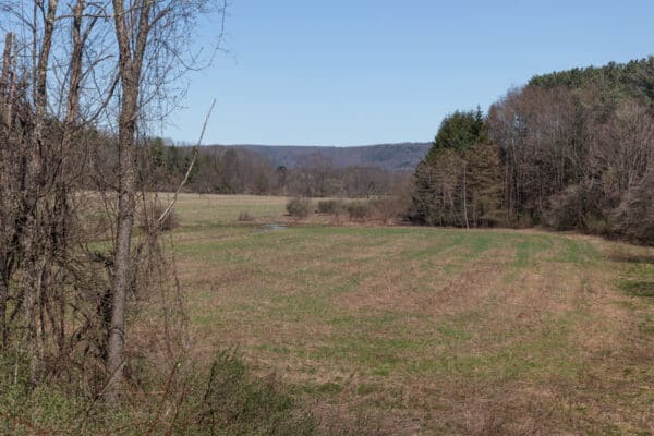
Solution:
{"label": "thickest bare tree trunk at left, nearest the open field, forking upward", "polygon": [[[205,12],[206,7],[204,0],[112,0],[120,77],[118,217],[107,346],[107,396],[112,400],[119,399],[121,386],[126,295],[133,275],[131,241],[137,175],[137,123],[147,104],[159,96],[161,85],[171,78],[169,75],[179,72],[173,62],[187,65],[180,57],[184,52],[181,44],[184,35],[192,33],[195,17]],[[155,94],[148,94],[153,89]]]}

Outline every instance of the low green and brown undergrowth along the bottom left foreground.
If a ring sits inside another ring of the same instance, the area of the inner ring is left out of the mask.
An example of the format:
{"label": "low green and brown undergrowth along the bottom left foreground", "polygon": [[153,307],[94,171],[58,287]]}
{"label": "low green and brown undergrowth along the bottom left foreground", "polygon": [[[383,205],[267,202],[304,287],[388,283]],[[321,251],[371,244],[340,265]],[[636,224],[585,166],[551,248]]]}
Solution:
{"label": "low green and brown undergrowth along the bottom left foreground", "polygon": [[[253,376],[231,351],[208,367],[177,364],[168,377],[126,386],[120,404],[71,391],[63,380],[31,387],[20,360],[0,366],[0,435],[354,435],[320,423],[272,375]],[[153,372],[155,374],[156,372]]]}

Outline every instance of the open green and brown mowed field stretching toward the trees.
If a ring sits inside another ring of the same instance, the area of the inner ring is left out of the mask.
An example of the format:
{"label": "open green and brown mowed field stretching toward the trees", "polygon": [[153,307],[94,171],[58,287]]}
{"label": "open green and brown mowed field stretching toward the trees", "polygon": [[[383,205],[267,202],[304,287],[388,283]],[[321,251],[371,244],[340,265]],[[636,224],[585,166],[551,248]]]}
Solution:
{"label": "open green and brown mowed field stretching toward the trees", "polygon": [[181,196],[175,262],[199,355],[237,348],[324,420],[380,433],[653,434],[654,251],[302,223],[286,201]]}

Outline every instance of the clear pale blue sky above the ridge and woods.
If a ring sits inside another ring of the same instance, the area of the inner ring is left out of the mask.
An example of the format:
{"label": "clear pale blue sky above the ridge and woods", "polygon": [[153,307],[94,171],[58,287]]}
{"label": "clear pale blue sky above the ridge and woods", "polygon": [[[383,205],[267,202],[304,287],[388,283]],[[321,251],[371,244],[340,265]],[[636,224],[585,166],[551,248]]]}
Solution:
{"label": "clear pale blue sky above the ridge and woods", "polygon": [[205,144],[427,142],[534,74],[654,53],[652,0],[231,0],[226,25],[165,136],[196,141],[215,97]]}

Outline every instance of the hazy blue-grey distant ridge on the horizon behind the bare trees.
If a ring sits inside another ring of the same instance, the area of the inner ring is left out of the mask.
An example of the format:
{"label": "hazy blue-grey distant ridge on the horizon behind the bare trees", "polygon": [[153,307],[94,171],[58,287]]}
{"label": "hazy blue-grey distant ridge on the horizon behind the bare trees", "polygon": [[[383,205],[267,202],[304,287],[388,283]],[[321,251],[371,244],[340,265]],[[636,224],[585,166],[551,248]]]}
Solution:
{"label": "hazy blue-grey distant ridge on the horizon behind the bare trees", "polygon": [[262,156],[275,167],[293,168],[303,160],[327,159],[334,167],[372,167],[387,171],[413,171],[431,143],[377,144],[351,147],[299,145],[209,145],[204,148],[238,148]]}

